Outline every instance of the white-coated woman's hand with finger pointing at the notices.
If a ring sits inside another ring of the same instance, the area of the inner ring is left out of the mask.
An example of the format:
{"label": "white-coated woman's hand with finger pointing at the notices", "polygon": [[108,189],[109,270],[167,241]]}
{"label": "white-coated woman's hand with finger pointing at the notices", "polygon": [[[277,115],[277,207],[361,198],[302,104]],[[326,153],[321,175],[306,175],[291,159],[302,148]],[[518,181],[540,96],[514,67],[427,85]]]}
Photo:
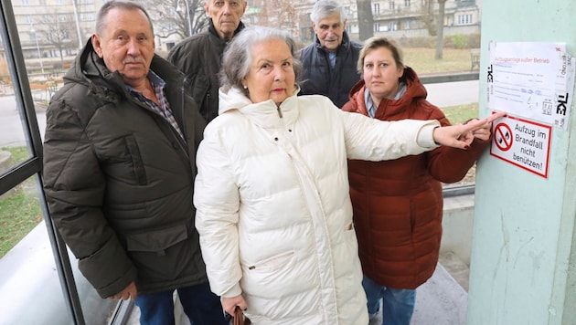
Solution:
{"label": "white-coated woman's hand with finger pointing at the notices", "polygon": [[464,125],[436,128],[432,133],[432,137],[436,143],[454,148],[468,149],[475,138],[488,140],[492,121],[504,116],[506,116],[506,112],[500,111],[485,119],[469,121]]}

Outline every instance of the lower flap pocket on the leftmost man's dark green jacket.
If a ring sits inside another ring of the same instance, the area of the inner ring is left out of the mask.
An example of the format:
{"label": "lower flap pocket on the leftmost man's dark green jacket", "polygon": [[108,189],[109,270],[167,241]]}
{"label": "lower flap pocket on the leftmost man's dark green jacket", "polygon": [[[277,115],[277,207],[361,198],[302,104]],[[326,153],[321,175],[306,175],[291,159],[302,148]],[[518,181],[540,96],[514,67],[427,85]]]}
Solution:
{"label": "lower flap pocket on the leftmost man's dark green jacket", "polygon": [[165,249],[188,237],[186,225],[175,225],[162,230],[126,236],[127,249],[133,252],[156,252],[164,255]]}

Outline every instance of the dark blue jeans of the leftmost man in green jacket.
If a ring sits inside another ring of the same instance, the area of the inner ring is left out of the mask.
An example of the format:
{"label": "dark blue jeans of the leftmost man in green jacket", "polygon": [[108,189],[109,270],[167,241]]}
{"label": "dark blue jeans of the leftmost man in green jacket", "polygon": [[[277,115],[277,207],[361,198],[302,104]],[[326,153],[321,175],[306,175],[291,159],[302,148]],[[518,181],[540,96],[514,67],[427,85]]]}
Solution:
{"label": "dark blue jeans of the leftmost man in green jacket", "polygon": [[[178,298],[190,324],[228,325],[218,296],[210,291],[208,283],[193,287],[177,288]],[[140,308],[140,324],[173,325],[174,290],[138,295],[135,300]]]}

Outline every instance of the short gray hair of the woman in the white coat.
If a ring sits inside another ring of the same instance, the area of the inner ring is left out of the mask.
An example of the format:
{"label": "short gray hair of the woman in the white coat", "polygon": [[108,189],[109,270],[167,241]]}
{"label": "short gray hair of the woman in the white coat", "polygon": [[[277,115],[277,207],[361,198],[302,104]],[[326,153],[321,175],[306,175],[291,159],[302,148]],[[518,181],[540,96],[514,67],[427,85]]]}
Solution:
{"label": "short gray hair of the woman in the white coat", "polygon": [[244,90],[242,80],[248,77],[252,64],[252,47],[256,44],[266,42],[271,39],[281,39],[290,48],[293,58],[293,70],[296,80],[300,79],[303,72],[302,63],[295,57],[296,43],[290,34],[281,29],[266,26],[247,26],[242,29],[238,36],[232,38],[228,47],[224,51],[222,58],[222,68],[220,70],[220,84],[223,91],[231,88]]}

